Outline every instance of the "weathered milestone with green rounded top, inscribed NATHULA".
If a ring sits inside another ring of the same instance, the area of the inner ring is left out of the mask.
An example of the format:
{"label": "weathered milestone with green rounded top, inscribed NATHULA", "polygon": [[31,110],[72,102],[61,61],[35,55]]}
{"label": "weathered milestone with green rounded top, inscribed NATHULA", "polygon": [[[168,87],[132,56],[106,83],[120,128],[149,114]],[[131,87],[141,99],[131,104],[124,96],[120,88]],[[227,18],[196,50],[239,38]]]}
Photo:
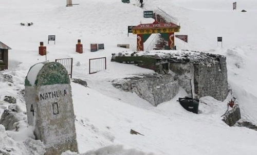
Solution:
{"label": "weathered milestone with green rounded top, inscribed NATHULA", "polygon": [[45,144],[45,155],[78,152],[70,79],[61,63],[42,62],[30,68],[25,101],[28,123]]}

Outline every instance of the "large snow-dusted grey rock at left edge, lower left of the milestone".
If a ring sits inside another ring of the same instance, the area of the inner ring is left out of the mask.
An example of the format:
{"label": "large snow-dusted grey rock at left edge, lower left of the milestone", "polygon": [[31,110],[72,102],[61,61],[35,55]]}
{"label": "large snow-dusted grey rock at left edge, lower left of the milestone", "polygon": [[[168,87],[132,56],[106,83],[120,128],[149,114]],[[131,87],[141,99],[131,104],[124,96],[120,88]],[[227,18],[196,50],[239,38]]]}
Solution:
{"label": "large snow-dusted grey rock at left edge, lower left of the milestone", "polygon": [[5,130],[13,130],[16,129],[13,124],[18,121],[20,121],[20,117],[19,115],[17,115],[16,112],[5,109],[4,113],[1,116],[0,124],[5,126]]}

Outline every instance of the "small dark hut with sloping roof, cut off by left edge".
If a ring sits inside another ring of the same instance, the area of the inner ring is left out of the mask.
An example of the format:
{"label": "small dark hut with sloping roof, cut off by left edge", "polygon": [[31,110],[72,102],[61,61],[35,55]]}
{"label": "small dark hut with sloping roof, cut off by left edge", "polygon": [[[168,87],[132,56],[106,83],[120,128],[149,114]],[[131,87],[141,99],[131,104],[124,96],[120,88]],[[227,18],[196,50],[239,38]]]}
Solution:
{"label": "small dark hut with sloping roof, cut off by left edge", "polygon": [[0,71],[8,70],[8,50],[11,48],[0,41]]}

